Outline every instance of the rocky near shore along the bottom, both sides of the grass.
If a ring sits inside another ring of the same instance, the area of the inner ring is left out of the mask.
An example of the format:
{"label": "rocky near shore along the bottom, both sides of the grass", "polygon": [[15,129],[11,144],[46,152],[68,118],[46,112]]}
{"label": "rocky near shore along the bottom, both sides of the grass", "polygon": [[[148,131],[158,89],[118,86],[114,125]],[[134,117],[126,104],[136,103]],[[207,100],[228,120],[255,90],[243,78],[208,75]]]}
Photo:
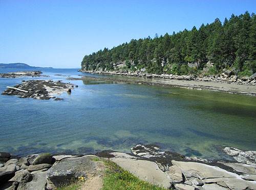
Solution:
{"label": "rocky near shore along the bottom, both sides of the grass", "polygon": [[102,151],[95,155],[0,153],[0,189],[54,189],[83,177],[102,178],[98,158],[108,159],[141,180],[166,189],[256,189],[256,151],[226,147],[234,161],[209,161],[137,145],[131,153]]}

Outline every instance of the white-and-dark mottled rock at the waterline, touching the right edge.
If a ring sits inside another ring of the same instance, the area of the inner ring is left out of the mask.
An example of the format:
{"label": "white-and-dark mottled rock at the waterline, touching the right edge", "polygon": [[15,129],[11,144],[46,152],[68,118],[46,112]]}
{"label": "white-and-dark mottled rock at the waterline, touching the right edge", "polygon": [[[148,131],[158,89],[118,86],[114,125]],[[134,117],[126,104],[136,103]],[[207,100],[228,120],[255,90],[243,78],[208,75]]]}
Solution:
{"label": "white-and-dark mottled rock at the waterline, touching the right edge", "polygon": [[238,162],[256,166],[256,151],[242,151],[233,147],[225,147],[223,150]]}

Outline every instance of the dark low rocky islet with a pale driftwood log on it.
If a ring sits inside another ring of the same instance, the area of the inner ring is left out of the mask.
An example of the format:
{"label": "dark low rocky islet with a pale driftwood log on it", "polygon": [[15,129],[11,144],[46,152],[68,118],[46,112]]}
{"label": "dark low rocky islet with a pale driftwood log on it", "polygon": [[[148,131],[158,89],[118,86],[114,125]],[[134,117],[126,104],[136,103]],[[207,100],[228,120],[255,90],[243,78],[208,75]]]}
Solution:
{"label": "dark low rocky islet with a pale driftwood log on it", "polygon": [[17,95],[20,98],[34,98],[41,100],[53,98],[55,100],[61,100],[61,98],[57,98],[56,95],[63,92],[71,93],[71,89],[74,89],[74,86],[69,83],[62,83],[60,80],[57,82],[53,82],[53,80],[27,80],[13,88],[22,91],[7,88],[2,94]]}

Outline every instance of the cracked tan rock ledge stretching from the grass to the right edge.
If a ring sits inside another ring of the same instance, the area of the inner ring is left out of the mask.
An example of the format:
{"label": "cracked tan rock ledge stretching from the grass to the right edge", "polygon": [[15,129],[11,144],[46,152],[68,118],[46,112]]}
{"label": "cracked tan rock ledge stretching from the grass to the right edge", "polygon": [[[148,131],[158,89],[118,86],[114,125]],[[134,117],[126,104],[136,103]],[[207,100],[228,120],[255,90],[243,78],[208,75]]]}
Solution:
{"label": "cracked tan rock ledge stretching from the grass to the right edge", "polygon": [[[170,186],[175,189],[256,189],[256,167],[251,165],[230,161],[212,162],[205,159],[185,156],[172,158],[169,157],[171,155],[169,152],[161,151],[158,146],[154,145],[137,145],[132,148],[132,153],[134,156],[114,152],[111,154],[115,157],[111,158],[111,160],[143,179],[145,175],[141,175],[139,171],[143,171],[143,169],[141,169],[138,164],[133,164],[133,162],[141,159],[144,162],[151,162],[154,157],[164,158],[166,156],[170,161],[164,167],[158,162],[157,166],[160,169],[158,172],[161,173],[158,174],[158,176],[165,174],[169,180]],[[150,164],[148,164],[147,167],[149,168]],[[144,167],[144,170],[146,170],[145,168],[147,167]],[[147,175],[147,180],[155,179],[154,172],[147,173],[146,171],[144,173]],[[166,180],[166,177],[162,177],[158,181],[148,181],[159,185],[163,179]],[[168,182],[165,180],[161,185],[166,187]]]}

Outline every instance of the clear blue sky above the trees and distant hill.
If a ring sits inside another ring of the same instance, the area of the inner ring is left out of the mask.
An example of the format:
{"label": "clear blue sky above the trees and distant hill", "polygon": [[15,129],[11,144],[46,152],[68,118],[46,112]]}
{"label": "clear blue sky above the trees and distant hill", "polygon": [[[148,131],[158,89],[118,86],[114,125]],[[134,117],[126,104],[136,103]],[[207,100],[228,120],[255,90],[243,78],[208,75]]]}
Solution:
{"label": "clear blue sky above the trees and distant hill", "polygon": [[256,0],[0,0],[0,63],[79,68],[104,47],[255,10]]}

